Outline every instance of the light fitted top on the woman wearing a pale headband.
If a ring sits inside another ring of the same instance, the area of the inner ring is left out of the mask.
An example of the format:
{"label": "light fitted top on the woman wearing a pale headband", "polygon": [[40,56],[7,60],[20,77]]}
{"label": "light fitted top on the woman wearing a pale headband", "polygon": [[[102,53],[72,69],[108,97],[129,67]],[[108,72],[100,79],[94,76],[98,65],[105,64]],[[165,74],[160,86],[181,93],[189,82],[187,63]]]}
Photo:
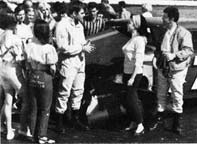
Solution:
{"label": "light fitted top on the woman wearing a pale headband", "polygon": [[139,67],[138,74],[143,73],[144,52],[147,39],[144,36],[131,38],[122,48],[125,55],[124,73],[132,74],[135,67]]}

